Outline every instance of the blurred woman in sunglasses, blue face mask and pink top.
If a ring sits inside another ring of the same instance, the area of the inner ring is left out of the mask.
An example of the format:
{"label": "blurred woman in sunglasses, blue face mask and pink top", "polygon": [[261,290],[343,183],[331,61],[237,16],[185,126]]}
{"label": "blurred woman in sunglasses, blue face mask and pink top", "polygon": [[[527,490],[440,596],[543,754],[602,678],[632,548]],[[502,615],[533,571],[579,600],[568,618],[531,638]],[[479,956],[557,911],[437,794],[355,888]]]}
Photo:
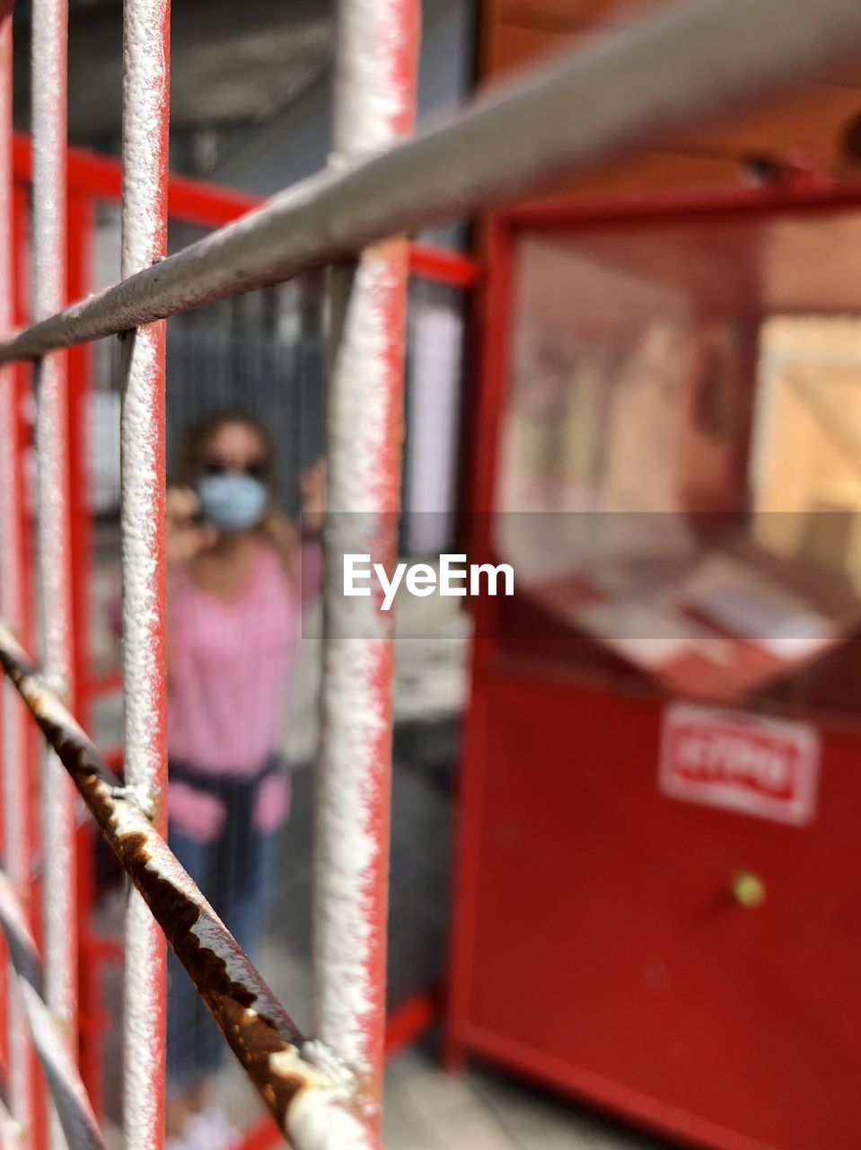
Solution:
{"label": "blurred woman in sunglasses, blue face mask and pink top", "polygon": [[[302,477],[300,537],[275,508],[266,432],[229,414],[193,430],[179,481],[167,496],[169,841],[253,952],[290,802],[276,747],[320,581],[324,473]],[[206,1083],[225,1043],[172,954],[168,972],[169,1144],[220,1150],[231,1132]]]}

